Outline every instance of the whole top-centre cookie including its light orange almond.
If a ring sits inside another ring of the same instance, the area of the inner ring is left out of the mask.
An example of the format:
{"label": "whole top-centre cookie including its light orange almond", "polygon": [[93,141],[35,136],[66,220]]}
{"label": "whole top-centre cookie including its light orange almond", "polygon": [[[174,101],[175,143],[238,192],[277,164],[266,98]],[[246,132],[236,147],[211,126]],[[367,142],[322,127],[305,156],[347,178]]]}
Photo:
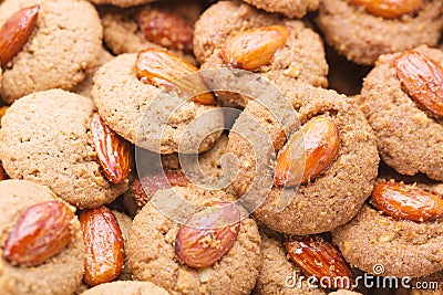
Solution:
{"label": "whole top-centre cookie including its light orange almond", "polygon": [[[241,69],[271,82],[328,85],[320,36],[301,21],[264,13],[246,3],[220,1],[207,9],[195,24],[194,53],[202,70]],[[235,55],[234,61],[230,54]],[[238,60],[260,63],[248,66]],[[210,86],[217,89],[219,83],[223,82],[215,80]]]}

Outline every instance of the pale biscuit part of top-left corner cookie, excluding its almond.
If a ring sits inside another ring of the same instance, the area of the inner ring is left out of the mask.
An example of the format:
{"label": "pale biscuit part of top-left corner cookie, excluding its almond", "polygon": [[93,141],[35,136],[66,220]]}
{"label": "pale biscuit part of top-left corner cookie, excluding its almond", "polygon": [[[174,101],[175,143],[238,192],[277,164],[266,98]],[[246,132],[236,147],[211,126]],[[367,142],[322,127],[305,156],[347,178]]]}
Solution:
{"label": "pale biscuit part of top-left corner cookie, excluding its almond", "polygon": [[37,25],[23,49],[3,66],[4,102],[51,88],[72,89],[97,63],[103,28],[94,7],[83,0],[8,0],[0,23],[20,9],[40,4]]}

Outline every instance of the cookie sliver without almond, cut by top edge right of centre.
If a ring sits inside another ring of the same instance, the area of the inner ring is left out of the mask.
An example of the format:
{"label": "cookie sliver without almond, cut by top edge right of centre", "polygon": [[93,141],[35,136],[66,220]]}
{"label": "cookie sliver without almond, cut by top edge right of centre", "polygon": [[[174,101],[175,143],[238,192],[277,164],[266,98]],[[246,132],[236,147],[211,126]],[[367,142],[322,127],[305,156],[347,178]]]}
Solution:
{"label": "cookie sliver without almond, cut by top edge right of centre", "polygon": [[309,11],[317,10],[319,0],[245,0],[256,8],[267,12],[279,12],[288,18],[301,19]]}

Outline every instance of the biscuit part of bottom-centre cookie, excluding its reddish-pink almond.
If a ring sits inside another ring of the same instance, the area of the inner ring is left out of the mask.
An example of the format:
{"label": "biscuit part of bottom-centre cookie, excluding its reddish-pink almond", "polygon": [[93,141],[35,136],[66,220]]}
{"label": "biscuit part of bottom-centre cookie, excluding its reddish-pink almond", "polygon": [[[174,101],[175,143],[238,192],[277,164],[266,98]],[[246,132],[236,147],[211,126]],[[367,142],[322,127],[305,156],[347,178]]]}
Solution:
{"label": "biscuit part of bottom-centre cookie, excluding its reddish-pink almond", "polygon": [[[193,204],[210,206],[233,201],[223,191],[203,191],[192,186],[175,187],[174,191]],[[153,200],[172,193],[158,191]],[[177,202],[174,202],[177,206]],[[174,204],[171,203],[173,207]],[[171,208],[177,217],[182,208]],[[150,281],[171,294],[249,294],[260,268],[260,235],[253,219],[240,221],[233,247],[213,266],[194,268],[183,264],[175,254],[175,239],[179,224],[153,206],[143,207],[130,231],[127,255],[134,280]]]}

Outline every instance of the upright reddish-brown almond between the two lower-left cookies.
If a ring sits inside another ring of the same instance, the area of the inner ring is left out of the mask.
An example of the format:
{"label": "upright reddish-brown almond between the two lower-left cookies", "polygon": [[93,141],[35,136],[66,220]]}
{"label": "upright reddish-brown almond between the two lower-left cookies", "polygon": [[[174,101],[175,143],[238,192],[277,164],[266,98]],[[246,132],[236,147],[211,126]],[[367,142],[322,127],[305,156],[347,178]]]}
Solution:
{"label": "upright reddish-brown almond between the two lower-left cookies", "polygon": [[95,286],[117,278],[124,264],[124,244],[114,214],[101,207],[83,211],[79,220],[86,250],[84,283]]}

